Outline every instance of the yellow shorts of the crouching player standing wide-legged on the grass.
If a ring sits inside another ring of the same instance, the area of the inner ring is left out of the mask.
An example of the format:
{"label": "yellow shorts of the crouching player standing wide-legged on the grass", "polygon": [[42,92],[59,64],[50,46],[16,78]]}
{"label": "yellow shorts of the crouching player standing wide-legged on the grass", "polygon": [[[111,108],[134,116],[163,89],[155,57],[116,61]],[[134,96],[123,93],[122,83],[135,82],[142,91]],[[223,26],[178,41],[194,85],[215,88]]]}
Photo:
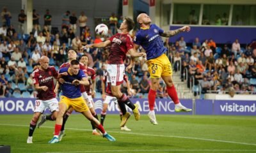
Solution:
{"label": "yellow shorts of the crouching player standing wide-legged on the grass", "polygon": [[72,108],[74,108],[74,110],[76,110],[76,112],[86,112],[89,110],[83,97],[67,98],[66,96],[61,96],[60,103],[65,103],[65,105],[67,105],[67,108],[72,106]]}

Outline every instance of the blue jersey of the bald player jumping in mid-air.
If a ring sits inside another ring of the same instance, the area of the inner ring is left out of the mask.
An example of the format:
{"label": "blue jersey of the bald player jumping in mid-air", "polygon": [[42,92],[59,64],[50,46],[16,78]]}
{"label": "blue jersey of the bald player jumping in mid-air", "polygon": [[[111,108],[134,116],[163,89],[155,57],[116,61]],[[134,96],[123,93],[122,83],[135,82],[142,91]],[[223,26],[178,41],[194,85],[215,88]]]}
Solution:
{"label": "blue jersey of the bald player jumping in mid-air", "polygon": [[146,50],[147,60],[155,59],[166,52],[163,40],[160,36],[164,31],[156,24],[150,25],[148,29],[141,28],[134,37],[134,43],[141,45]]}

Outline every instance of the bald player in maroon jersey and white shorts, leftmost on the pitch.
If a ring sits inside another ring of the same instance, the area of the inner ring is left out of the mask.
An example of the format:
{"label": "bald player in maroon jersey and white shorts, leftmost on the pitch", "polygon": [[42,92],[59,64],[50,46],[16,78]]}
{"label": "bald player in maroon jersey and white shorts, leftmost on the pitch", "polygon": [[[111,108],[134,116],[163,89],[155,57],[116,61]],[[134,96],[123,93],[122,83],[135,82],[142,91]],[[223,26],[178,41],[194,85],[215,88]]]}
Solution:
{"label": "bald player in maroon jersey and white shorts, leftmost on the pitch", "polygon": [[53,78],[58,77],[58,72],[53,66],[49,66],[49,58],[47,56],[42,56],[39,63],[40,67],[36,68],[32,73],[33,84],[38,94],[36,95],[34,115],[29,126],[27,143],[33,143],[33,133],[36,123],[45,108],[49,108],[52,112],[52,119],[56,119],[59,110],[53,82]]}

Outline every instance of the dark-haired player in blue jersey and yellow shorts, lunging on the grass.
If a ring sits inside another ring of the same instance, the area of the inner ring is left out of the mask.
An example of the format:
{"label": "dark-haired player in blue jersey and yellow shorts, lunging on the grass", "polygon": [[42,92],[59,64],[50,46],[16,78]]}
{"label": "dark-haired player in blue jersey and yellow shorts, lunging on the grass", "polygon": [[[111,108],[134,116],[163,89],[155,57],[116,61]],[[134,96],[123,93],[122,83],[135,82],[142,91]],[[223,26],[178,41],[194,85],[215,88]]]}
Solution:
{"label": "dark-haired player in blue jersey and yellow shorts, lunging on the grass", "polygon": [[93,117],[82,97],[79,85],[89,85],[89,82],[86,75],[84,75],[83,70],[79,68],[79,61],[72,60],[70,61],[69,68],[61,68],[58,78],[63,78],[65,82],[61,84],[62,95],[59,103],[60,110],[56,118],[54,136],[52,140],[49,141],[49,143],[59,142],[63,115],[70,107],[74,108],[76,112],[82,113],[84,117],[93,122],[95,127],[102,133],[104,138],[107,138],[111,142],[115,142],[115,138],[106,133],[99,120]]}

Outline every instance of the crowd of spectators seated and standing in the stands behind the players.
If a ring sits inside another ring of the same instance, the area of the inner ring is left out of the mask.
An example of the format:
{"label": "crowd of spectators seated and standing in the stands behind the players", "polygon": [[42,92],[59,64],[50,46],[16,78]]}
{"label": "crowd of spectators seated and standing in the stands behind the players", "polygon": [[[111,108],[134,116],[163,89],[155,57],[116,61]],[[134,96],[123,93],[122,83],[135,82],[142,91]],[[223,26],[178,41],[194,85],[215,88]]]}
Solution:
{"label": "crowd of spectators seated and standing in the stands behind the players", "polygon": [[[35,97],[31,73],[37,68],[40,57],[48,56],[49,64],[59,69],[63,62],[67,62],[68,49],[73,48],[79,56],[88,55],[88,66],[94,68],[97,74],[96,92],[100,98],[101,81],[108,63],[108,47],[83,50],[82,46],[102,42],[117,33],[122,17],[118,19],[115,13],[111,15],[108,23],[109,33],[104,38],[92,37],[93,32],[86,26],[88,18],[83,11],[79,17],[76,17],[75,11],[66,11],[62,16],[61,29],[58,31],[51,26],[50,10],[45,11],[42,28],[38,20],[40,15],[33,10],[33,29],[29,34],[24,33],[24,10],[20,10],[18,30],[13,27],[12,15],[7,8],[1,12],[1,18],[3,25],[0,27],[0,97]],[[230,87],[244,93],[255,91],[254,86],[250,84],[250,78],[256,78],[255,43],[243,49],[239,45],[239,40],[236,40],[232,46],[224,45],[220,49],[212,39],[201,44],[200,40],[195,38],[190,47],[186,44],[185,38],[181,37],[175,43],[169,43],[167,40],[165,45],[168,48],[166,54],[173,62],[173,71],[181,69],[183,75],[184,69],[188,69],[187,78],[194,76],[195,85],[202,87],[202,93],[209,90],[224,91]],[[139,48],[139,51],[141,50],[142,48]],[[125,65],[127,66],[130,61],[128,55]],[[141,57],[136,59],[132,72],[127,73],[127,76],[131,82],[132,96],[147,98],[150,89],[147,61]],[[123,85],[123,89],[127,89],[127,85]],[[157,98],[166,98],[167,95],[166,87],[161,80]]]}

